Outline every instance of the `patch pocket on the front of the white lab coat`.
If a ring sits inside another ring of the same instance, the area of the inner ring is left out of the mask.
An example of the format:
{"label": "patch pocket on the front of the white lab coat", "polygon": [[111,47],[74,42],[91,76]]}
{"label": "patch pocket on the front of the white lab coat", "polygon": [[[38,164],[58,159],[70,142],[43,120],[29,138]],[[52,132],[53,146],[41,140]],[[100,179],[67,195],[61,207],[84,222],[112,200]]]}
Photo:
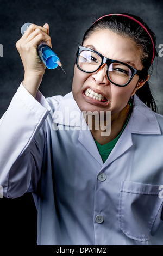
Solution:
{"label": "patch pocket on the front of the white lab coat", "polygon": [[162,207],[163,186],[121,182],[119,227],[131,239],[149,240],[149,233]]}

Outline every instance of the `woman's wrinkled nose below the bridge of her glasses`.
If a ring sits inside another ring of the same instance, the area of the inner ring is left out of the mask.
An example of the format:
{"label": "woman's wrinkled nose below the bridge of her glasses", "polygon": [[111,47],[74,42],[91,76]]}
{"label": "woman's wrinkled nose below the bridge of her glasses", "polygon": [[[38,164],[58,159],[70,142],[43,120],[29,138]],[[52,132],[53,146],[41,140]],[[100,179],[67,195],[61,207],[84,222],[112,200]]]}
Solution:
{"label": "woman's wrinkled nose below the bridge of her glasses", "polygon": [[107,77],[107,65],[104,63],[95,73],[92,74],[93,80],[99,85],[108,85],[109,80]]}

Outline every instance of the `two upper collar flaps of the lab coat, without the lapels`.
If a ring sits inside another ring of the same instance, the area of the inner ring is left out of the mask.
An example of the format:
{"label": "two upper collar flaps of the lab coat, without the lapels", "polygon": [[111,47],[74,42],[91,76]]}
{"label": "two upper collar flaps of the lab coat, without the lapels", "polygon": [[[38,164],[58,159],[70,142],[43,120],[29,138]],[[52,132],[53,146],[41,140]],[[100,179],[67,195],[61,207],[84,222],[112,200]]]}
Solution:
{"label": "two upper collar flaps of the lab coat, without the lapels", "polygon": [[[82,111],[80,111],[76,101],[74,100],[72,92],[66,94],[53,114],[54,123],[65,126],[80,127],[82,120]],[[129,128],[131,133],[161,133],[155,113],[136,95],[134,95],[134,108],[128,126],[131,126]]]}

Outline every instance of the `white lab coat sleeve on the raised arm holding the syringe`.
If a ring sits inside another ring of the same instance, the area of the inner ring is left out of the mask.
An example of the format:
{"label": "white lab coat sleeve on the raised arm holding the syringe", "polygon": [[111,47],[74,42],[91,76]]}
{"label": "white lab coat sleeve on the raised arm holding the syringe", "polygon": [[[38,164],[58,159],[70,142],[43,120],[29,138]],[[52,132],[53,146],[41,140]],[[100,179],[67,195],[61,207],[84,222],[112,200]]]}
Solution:
{"label": "white lab coat sleeve on the raised arm holding the syringe", "polygon": [[0,185],[3,196],[36,191],[46,139],[42,124],[50,107],[38,91],[36,99],[21,83],[0,120]]}

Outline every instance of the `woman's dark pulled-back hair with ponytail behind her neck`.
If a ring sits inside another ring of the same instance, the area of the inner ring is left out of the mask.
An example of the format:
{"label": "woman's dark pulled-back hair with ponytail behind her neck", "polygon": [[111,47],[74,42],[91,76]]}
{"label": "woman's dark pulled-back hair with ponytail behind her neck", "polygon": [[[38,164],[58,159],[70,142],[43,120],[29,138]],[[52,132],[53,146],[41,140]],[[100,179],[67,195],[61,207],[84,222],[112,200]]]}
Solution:
{"label": "woman's dark pulled-back hair with ponytail behind her neck", "polygon": [[[156,51],[155,34],[151,31],[151,29],[147,26],[147,24],[138,16],[135,16],[133,14],[128,14],[128,13],[123,13],[123,14],[134,17],[137,21],[141,22],[143,26],[145,26],[149,34],[151,34],[154,42],[154,48],[155,48],[154,57],[158,56],[158,53]],[[105,16],[102,19],[99,19],[98,21],[96,21],[89,29],[87,29],[83,37],[82,45],[83,45],[83,42],[87,38],[89,38],[89,36],[93,32],[101,29],[109,29],[112,32],[115,32],[116,34],[121,36],[126,36],[135,42],[135,44],[141,50],[141,63],[143,65],[143,71],[144,71],[143,76],[139,77],[139,81],[146,80],[149,72],[150,74],[152,72],[152,69],[149,70],[149,68],[152,68],[151,62],[153,58],[153,44],[149,34],[145,31],[145,29],[142,28],[139,25],[139,23],[129,19],[128,17],[118,16],[118,15]],[[148,81],[146,81],[146,83],[139,90],[136,91],[136,95],[148,107],[150,107],[153,111],[156,112],[156,103],[151,94]]]}

